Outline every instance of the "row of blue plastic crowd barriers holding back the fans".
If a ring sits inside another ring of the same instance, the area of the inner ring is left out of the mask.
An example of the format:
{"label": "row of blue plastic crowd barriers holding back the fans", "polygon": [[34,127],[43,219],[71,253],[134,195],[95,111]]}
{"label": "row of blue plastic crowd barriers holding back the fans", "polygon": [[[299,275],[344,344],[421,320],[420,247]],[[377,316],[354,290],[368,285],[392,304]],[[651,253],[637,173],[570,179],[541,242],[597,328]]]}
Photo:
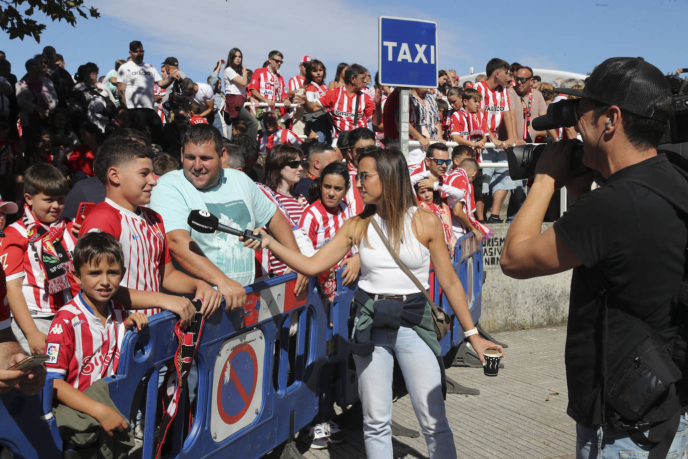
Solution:
{"label": "row of blue plastic crowd barriers holding back the fans", "polygon": [[[458,239],[453,267],[466,290],[474,321],[480,318],[482,250],[472,233]],[[348,319],[356,283],[343,286],[341,269],[331,303],[309,285],[308,296],[294,297],[291,273],[246,288],[248,302],[207,320],[195,355],[195,403],[184,395],[167,438],[164,457],[259,458],[308,426],[318,414],[323,365],[332,365],[334,394],[341,407],[358,401],[356,370],[348,351]],[[446,354],[463,341],[463,330],[431,273],[431,295],[452,317],[450,333],[440,341]],[[139,334],[128,333],[120,350],[118,374],[105,378],[110,396],[129,419],[145,406],[144,425],[159,423],[162,406],[158,377],[171,365],[178,340],[176,317],[151,317]],[[151,383],[142,383],[150,381]],[[330,383],[331,381],[325,381]],[[0,394],[0,445],[16,458],[59,458],[62,440],[52,418],[52,380],[42,394],[25,396],[16,389]],[[184,420],[191,420],[189,425]],[[153,457],[154,428],[144,429],[142,456]]]}

